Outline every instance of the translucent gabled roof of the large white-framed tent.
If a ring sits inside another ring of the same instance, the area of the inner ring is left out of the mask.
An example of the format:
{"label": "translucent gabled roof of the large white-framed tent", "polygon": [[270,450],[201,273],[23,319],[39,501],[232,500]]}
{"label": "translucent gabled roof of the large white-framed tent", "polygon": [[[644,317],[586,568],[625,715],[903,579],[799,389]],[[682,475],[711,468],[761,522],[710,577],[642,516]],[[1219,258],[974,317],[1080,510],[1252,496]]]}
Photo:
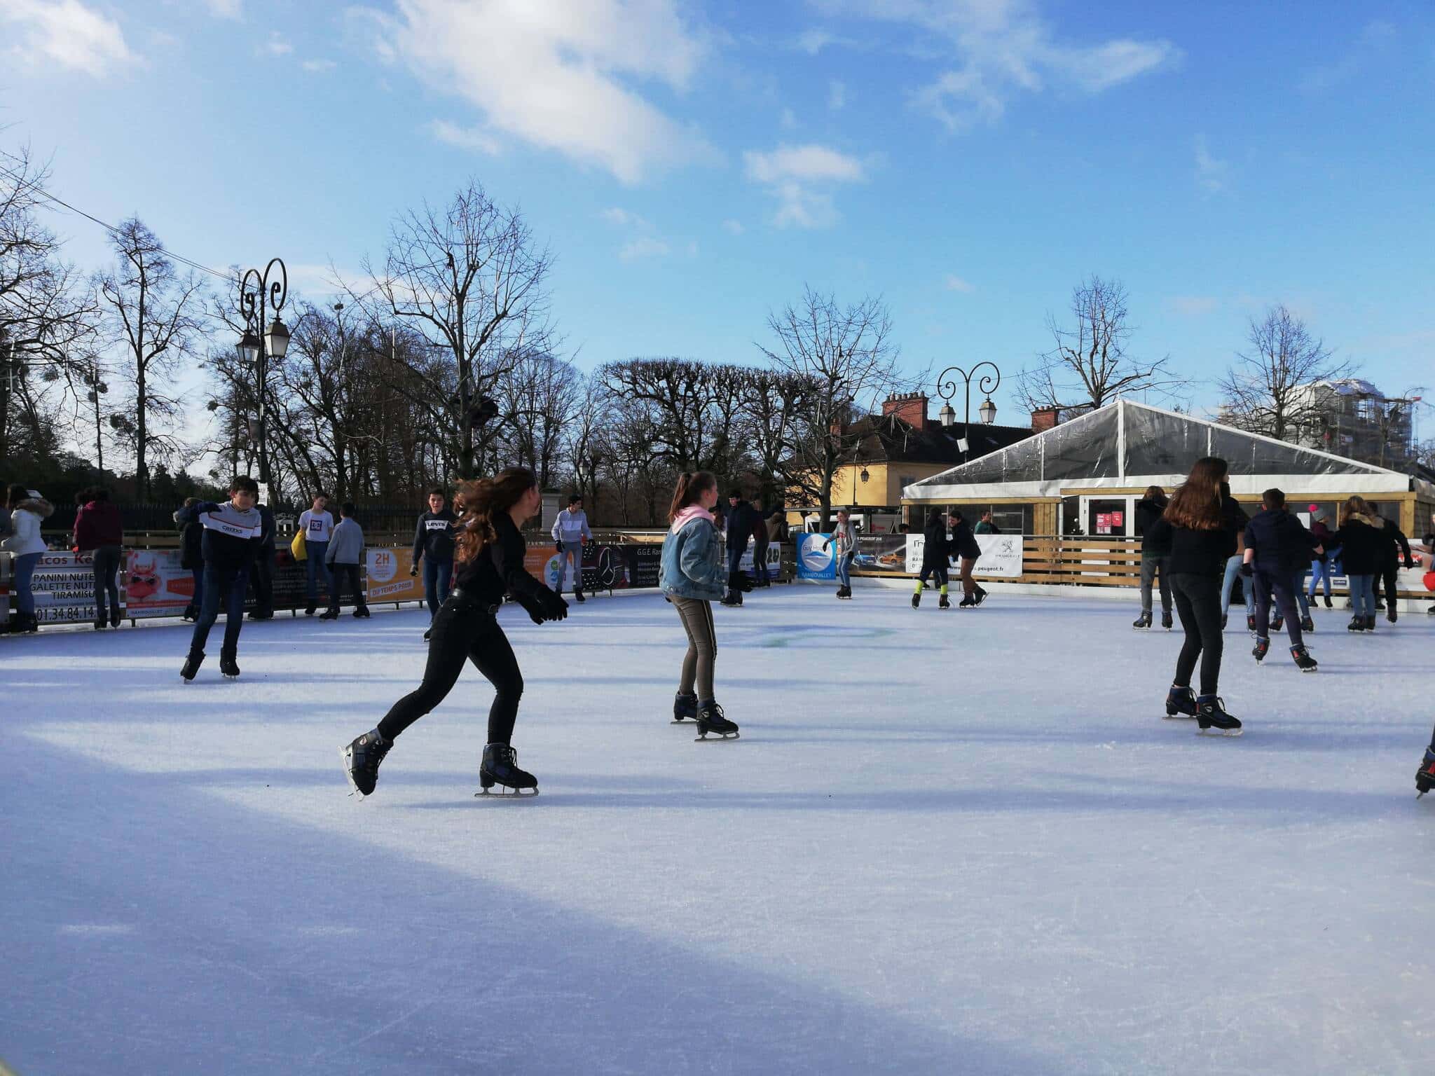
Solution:
{"label": "translucent gabled roof of the large white-framed tent", "polygon": [[916,482],[903,498],[943,502],[1174,486],[1201,456],[1227,461],[1237,494],[1273,485],[1302,494],[1389,494],[1408,492],[1413,481],[1435,498],[1435,486],[1399,471],[1126,399]]}

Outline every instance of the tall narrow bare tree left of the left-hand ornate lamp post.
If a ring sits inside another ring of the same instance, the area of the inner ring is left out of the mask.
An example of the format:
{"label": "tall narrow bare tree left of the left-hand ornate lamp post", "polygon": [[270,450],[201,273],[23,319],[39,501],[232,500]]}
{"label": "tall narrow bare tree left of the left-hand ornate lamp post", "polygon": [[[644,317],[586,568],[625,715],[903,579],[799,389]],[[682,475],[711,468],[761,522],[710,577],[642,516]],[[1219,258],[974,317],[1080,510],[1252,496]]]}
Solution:
{"label": "tall narrow bare tree left of the left-hand ornate lamp post", "polygon": [[118,265],[96,283],[133,392],[133,419],[121,423],[119,432],[133,448],[135,491],[144,501],[151,455],[164,459],[178,448],[164,420],[179,409],[169,389],[179,360],[192,354],[201,333],[204,288],[195,273],[179,277],[159,240],[138,218],[123,221],[110,245]]}

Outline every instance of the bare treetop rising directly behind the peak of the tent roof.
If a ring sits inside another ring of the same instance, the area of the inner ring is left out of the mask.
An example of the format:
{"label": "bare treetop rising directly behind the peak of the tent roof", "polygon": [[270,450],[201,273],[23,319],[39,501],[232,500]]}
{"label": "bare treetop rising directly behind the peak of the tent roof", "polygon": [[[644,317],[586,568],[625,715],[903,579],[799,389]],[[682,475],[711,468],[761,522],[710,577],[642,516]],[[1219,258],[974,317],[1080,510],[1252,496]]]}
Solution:
{"label": "bare treetop rising directly behind the peak of the tent roof", "polygon": [[1125,393],[1171,396],[1187,382],[1171,370],[1171,356],[1134,357],[1126,288],[1092,275],[1072,288],[1069,324],[1048,314],[1053,347],[1023,370],[1017,395],[1027,410],[1088,410]]}

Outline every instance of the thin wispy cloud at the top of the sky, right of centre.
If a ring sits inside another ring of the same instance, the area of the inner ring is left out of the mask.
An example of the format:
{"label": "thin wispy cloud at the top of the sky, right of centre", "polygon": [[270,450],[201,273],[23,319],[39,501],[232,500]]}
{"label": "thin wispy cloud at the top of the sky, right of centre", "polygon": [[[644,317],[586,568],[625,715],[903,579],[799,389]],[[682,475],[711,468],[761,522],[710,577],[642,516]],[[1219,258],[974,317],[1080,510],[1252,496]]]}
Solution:
{"label": "thin wispy cloud at the top of the sky, right of centre", "polygon": [[1019,93],[1048,85],[1099,93],[1175,62],[1165,39],[1115,37],[1069,44],[1036,10],[1035,0],[815,0],[832,14],[916,26],[954,62],[914,95],[914,103],[951,131],[993,123]]}

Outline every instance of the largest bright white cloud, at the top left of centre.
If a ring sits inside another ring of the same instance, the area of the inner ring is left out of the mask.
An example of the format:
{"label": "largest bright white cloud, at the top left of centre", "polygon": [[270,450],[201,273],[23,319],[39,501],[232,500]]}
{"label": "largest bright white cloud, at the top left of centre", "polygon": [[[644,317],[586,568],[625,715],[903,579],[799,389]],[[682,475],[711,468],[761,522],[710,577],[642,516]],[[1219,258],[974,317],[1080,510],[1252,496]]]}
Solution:
{"label": "largest bright white cloud, at the top left of centre", "polygon": [[396,0],[359,9],[380,57],[461,98],[486,131],[512,135],[636,184],[718,159],[693,128],[630,83],[686,90],[706,52],[677,0]]}

